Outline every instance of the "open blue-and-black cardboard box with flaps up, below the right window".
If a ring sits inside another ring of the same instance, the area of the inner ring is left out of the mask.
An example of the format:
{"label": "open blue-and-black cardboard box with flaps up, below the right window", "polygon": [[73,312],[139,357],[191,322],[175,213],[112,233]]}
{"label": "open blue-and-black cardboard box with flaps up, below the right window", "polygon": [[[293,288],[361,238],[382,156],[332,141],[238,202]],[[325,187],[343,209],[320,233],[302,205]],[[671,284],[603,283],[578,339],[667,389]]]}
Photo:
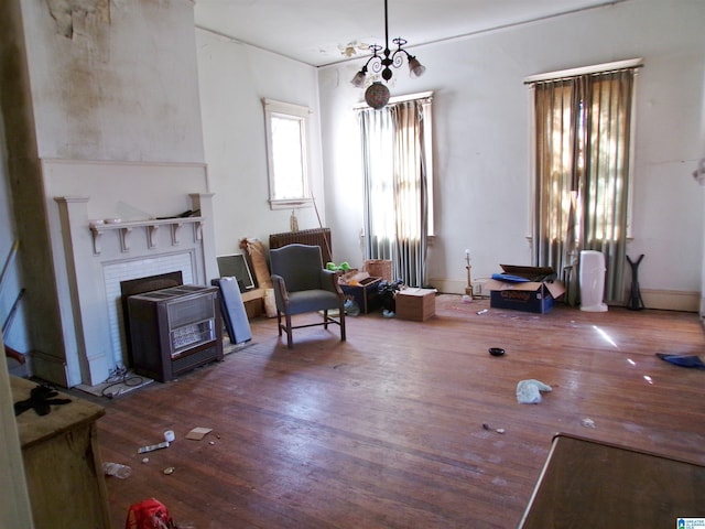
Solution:
{"label": "open blue-and-black cardboard box with flaps up, below the right window", "polygon": [[[543,314],[549,312],[554,301],[565,293],[563,283],[553,280],[555,273],[552,269],[506,264],[501,267],[508,279],[501,280],[502,274],[494,274],[487,282],[487,289],[490,291],[489,306],[494,309]],[[531,281],[512,281],[510,278],[531,279]]]}

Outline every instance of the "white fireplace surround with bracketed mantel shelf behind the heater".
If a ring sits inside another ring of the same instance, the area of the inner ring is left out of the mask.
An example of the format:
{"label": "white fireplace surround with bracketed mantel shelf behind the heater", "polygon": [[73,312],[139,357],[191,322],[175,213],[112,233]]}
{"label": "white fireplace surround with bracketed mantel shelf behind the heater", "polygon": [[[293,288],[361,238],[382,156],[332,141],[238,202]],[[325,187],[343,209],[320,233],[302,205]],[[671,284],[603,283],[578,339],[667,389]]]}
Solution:
{"label": "white fireplace surround with bracketed mantel shelf behind the heater", "polygon": [[[127,363],[120,282],[181,271],[186,284],[208,284],[217,276],[213,195],[191,194],[198,216],[109,224],[90,220],[87,196],[61,196],[58,207],[70,306],[59,299],[66,347],[66,386],[95,386]],[[204,229],[207,226],[208,229]],[[59,296],[62,298],[62,296]],[[33,359],[42,376],[44,355]],[[51,364],[50,359],[50,364]],[[36,371],[40,373],[36,373]]]}

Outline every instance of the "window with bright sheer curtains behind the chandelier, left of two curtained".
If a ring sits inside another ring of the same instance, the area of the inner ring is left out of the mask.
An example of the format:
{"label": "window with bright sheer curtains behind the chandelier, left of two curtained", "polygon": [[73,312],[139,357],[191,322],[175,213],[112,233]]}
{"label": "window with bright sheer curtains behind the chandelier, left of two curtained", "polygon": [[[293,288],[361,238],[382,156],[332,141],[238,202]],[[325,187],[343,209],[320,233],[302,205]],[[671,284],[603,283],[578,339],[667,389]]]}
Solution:
{"label": "window with bright sheer curtains behind the chandelier, left of two curtained", "polygon": [[365,253],[392,261],[394,278],[426,284],[433,233],[432,99],[359,110],[365,173]]}

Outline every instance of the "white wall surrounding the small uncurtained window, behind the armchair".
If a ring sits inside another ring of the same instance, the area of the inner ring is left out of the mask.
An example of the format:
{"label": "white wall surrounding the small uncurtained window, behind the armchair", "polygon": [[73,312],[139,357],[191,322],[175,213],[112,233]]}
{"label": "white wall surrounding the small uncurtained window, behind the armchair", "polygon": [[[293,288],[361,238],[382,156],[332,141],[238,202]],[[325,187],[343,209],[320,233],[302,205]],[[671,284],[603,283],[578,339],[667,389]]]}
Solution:
{"label": "white wall surrounding the small uncurtained window, behind the armchair", "polygon": [[[268,202],[262,98],[311,108],[312,190],[325,224],[315,68],[205,30],[196,31],[196,45],[217,253],[232,253],[245,237],[267,242],[269,234],[289,231],[292,212],[272,210]],[[314,208],[296,216],[301,229],[318,227]]]}

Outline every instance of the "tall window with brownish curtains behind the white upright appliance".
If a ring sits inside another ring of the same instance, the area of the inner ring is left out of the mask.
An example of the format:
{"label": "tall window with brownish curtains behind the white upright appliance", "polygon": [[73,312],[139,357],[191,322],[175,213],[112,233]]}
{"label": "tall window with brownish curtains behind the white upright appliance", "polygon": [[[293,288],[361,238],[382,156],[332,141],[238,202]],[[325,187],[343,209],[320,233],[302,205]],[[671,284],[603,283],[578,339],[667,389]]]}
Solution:
{"label": "tall window with brownish curtains behind the white upright appliance", "polygon": [[605,253],[605,299],[622,299],[634,72],[625,67],[532,84],[533,260],[570,279],[570,302],[577,301],[584,249]]}

